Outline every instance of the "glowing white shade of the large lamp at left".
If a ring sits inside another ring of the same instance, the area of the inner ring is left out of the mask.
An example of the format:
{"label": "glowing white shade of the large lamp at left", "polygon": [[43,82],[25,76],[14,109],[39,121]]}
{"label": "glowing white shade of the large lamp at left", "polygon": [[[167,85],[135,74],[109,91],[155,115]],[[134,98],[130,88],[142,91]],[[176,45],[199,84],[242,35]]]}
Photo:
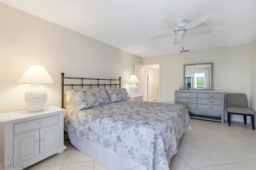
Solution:
{"label": "glowing white shade of the large lamp at left", "polygon": [[55,83],[44,66],[32,65],[17,81],[23,84],[52,84]]}

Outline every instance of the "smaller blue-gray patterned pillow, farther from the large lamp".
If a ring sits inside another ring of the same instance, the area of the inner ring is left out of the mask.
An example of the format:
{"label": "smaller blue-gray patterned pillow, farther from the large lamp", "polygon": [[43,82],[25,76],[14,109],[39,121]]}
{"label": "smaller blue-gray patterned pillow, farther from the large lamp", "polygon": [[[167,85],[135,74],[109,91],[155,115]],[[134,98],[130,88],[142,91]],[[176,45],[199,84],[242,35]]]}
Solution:
{"label": "smaller blue-gray patterned pillow, farther from the large lamp", "polygon": [[110,88],[106,87],[106,90],[108,92],[109,99],[112,103],[114,102],[120,102],[123,100],[128,100],[129,96],[126,91],[126,88]]}

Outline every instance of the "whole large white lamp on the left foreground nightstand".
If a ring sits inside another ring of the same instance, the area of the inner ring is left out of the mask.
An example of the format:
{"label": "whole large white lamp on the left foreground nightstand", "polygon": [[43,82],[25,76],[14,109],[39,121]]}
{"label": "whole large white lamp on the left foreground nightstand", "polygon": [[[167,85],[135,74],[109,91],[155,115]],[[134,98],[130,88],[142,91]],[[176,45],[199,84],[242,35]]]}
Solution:
{"label": "whole large white lamp on the left foreground nightstand", "polygon": [[38,84],[55,83],[45,70],[44,66],[32,65],[17,81],[17,83],[30,84],[25,93],[25,103],[30,112],[42,111],[47,100],[47,92],[38,88]]}

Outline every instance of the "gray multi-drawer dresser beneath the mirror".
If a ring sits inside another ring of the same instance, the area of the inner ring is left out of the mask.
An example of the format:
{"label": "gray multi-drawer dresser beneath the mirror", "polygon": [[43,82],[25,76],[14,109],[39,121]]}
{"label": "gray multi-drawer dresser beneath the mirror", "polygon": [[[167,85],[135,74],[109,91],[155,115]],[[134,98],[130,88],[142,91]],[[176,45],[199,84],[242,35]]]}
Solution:
{"label": "gray multi-drawer dresser beneath the mirror", "polygon": [[184,104],[191,118],[224,122],[223,91],[175,90],[175,103]]}

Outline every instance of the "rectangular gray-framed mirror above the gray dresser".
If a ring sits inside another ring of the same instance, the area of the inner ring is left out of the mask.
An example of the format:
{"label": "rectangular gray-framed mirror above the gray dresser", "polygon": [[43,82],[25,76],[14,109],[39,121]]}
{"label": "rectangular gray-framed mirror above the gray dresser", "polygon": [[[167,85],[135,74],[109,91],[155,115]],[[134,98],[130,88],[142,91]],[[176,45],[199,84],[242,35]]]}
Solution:
{"label": "rectangular gray-framed mirror above the gray dresser", "polygon": [[213,63],[184,64],[184,89],[213,90]]}

